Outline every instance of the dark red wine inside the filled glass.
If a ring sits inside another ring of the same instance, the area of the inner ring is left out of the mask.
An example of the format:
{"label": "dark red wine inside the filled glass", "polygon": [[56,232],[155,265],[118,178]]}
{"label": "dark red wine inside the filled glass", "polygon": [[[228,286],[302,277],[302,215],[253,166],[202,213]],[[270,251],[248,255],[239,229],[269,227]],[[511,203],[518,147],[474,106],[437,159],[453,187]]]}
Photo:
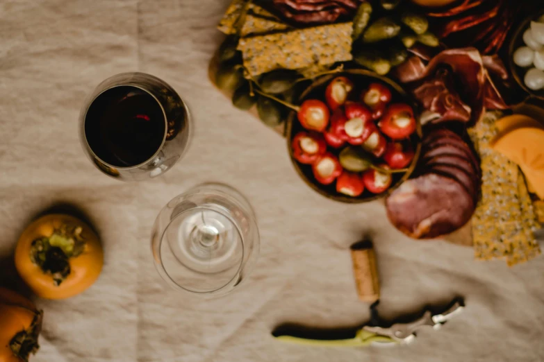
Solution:
{"label": "dark red wine inside the filled glass", "polygon": [[117,167],[149,160],[163,144],[165,114],[138,87],[113,87],[94,99],[85,115],[85,138],[97,157]]}

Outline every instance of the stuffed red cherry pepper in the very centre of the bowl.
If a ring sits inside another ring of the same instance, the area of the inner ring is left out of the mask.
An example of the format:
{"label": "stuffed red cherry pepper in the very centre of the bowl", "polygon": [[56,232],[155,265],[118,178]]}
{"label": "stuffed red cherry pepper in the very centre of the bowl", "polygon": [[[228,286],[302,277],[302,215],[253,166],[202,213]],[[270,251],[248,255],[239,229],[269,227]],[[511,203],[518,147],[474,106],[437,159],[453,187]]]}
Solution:
{"label": "stuffed red cherry pepper in the very centre of the bowl", "polygon": [[361,103],[346,102],[344,124],[345,140],[349,144],[363,144],[375,129],[372,113]]}

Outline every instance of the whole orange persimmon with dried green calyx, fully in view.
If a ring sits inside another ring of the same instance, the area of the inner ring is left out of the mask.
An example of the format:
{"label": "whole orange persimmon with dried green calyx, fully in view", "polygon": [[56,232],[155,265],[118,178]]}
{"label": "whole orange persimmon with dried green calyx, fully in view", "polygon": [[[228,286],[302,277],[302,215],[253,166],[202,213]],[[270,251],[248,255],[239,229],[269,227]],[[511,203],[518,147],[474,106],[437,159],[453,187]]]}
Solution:
{"label": "whole orange persimmon with dried green calyx, fully in view", "polygon": [[43,216],[26,227],[15,248],[15,266],[35,295],[70,298],[99,277],[104,255],[86,223],[63,214]]}

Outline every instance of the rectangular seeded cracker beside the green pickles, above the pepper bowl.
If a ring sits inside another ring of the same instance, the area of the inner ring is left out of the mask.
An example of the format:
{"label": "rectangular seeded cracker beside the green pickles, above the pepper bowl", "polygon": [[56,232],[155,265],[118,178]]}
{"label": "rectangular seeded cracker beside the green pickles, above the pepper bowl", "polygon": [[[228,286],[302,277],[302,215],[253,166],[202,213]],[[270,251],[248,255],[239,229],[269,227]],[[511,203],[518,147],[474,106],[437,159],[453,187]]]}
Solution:
{"label": "rectangular seeded cracker beside the green pickles, above the pepper bowl", "polygon": [[352,60],[352,22],[245,37],[238,50],[252,76],[280,68],[344,62]]}

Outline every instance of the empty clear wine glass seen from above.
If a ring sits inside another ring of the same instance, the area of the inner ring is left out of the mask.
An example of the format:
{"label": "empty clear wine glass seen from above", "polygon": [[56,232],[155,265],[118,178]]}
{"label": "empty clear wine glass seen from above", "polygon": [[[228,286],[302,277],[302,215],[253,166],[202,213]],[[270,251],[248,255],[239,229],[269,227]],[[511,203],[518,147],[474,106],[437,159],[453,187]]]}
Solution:
{"label": "empty clear wine glass seen from above", "polygon": [[225,184],[200,184],[172,199],[156,218],[151,249],[168,284],[198,295],[229,293],[258,257],[251,205]]}

